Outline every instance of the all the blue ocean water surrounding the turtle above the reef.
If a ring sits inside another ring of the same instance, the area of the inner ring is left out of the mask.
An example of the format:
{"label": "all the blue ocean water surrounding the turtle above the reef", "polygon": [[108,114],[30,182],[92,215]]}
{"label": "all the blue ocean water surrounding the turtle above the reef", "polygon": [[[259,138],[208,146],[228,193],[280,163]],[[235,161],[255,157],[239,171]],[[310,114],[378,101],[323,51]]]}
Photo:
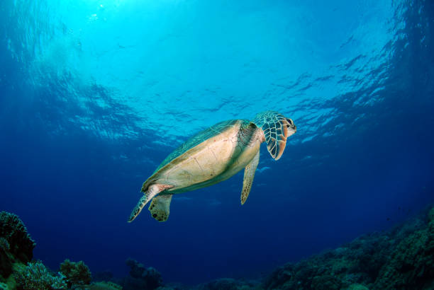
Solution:
{"label": "all the blue ocean water surrounding the turtle above the reef", "polygon": [[[434,2],[3,0],[0,209],[35,258],[165,282],[258,277],[434,202]],[[128,224],[189,136],[277,110],[297,132]]]}

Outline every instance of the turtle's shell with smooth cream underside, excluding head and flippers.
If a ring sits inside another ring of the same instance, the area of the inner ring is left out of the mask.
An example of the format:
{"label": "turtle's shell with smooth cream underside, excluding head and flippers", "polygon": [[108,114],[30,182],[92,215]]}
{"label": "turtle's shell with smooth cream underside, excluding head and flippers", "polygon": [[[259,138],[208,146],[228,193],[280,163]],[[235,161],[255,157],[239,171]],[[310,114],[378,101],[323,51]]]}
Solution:
{"label": "turtle's shell with smooth cream underside, excluding head and flippers", "polygon": [[[229,178],[230,176],[238,172],[240,168],[245,167],[245,159],[238,158],[240,154],[245,153],[242,149],[244,145],[241,145],[244,144],[242,140],[243,136],[239,135],[239,130],[245,130],[246,137],[248,139],[256,128],[257,127],[250,124],[248,120],[228,120],[215,124],[212,127],[202,132],[199,132],[198,134],[194,135],[194,137],[191,137],[184,144],[175,149],[172,153],[169,154],[169,156],[167,156],[167,158],[165,158],[164,161],[162,161],[160,166],[158,166],[158,168],[150,176],[150,178],[148,178],[148,180],[143,183],[142,192],[146,192],[148,190],[148,187],[153,182],[160,182],[164,184],[165,182],[169,182],[169,185],[177,184],[177,186],[174,186],[173,188],[167,190],[167,192],[177,191],[178,193],[183,191],[189,191],[193,188],[208,186],[216,182],[222,181],[226,178]],[[247,132],[250,133],[247,134]],[[228,139],[215,139],[213,140],[211,145],[210,140],[213,139],[213,137],[221,134],[226,136],[226,138],[235,138],[235,143],[226,143]],[[241,143],[239,144],[238,141],[236,141],[236,139],[238,138],[241,138]],[[204,145],[206,147],[201,145],[205,143],[208,144]],[[238,146],[236,144],[238,144]],[[205,148],[209,149],[208,146],[217,146],[213,147],[215,149],[215,153],[211,149],[210,151],[208,151],[208,153],[213,153],[214,158],[218,156],[218,161],[210,161],[206,154],[202,155],[200,153]],[[199,153],[199,155],[195,155],[197,153]],[[250,151],[248,151],[247,154],[250,154]],[[196,158],[194,158],[194,164],[197,164],[198,168],[201,168],[200,172],[190,170],[191,164],[189,165],[189,162],[187,161],[191,159],[191,156],[199,156],[199,159],[201,159],[201,161],[198,161],[196,160]],[[214,164],[214,162],[217,163]],[[202,163],[204,168],[202,168],[199,163]],[[179,167],[179,164],[183,165]],[[169,174],[176,177],[173,177],[173,179],[169,178]],[[176,182],[176,180],[184,180],[184,182],[181,182],[181,184],[179,182]],[[189,185],[189,182],[191,182],[191,186]]]}

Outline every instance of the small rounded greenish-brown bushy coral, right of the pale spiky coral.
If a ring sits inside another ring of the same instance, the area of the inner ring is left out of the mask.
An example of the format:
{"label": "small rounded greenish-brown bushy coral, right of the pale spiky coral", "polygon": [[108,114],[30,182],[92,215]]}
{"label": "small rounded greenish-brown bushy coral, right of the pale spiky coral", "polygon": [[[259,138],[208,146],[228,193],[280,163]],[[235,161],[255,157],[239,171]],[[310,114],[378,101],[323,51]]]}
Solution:
{"label": "small rounded greenish-brown bushy coral, right of the pale spiky coral", "polygon": [[83,261],[71,262],[69,259],[60,264],[60,273],[64,276],[65,282],[69,288],[72,285],[87,285],[90,284],[92,276],[87,265]]}

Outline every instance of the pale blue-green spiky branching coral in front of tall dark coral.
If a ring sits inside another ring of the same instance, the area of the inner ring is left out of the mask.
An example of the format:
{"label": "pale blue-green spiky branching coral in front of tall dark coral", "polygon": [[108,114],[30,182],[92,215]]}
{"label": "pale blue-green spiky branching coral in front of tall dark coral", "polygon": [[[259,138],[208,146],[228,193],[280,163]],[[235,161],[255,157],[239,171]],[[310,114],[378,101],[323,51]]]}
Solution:
{"label": "pale blue-green spiky branching coral in front of tall dark coral", "polygon": [[20,267],[13,272],[16,289],[66,289],[62,277],[52,274],[42,262],[29,262],[27,266]]}

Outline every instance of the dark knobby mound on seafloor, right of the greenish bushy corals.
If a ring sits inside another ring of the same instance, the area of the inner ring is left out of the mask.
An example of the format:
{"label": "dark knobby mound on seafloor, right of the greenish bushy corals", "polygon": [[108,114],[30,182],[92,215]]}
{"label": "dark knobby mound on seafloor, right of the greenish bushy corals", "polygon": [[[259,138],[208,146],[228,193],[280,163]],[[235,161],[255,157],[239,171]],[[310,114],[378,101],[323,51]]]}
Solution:
{"label": "dark knobby mound on seafloor, right of the greenish bushy corals", "polygon": [[162,277],[157,269],[148,267],[133,259],[126,260],[130,267],[130,277],[125,277],[121,285],[123,289],[157,289],[162,286]]}

